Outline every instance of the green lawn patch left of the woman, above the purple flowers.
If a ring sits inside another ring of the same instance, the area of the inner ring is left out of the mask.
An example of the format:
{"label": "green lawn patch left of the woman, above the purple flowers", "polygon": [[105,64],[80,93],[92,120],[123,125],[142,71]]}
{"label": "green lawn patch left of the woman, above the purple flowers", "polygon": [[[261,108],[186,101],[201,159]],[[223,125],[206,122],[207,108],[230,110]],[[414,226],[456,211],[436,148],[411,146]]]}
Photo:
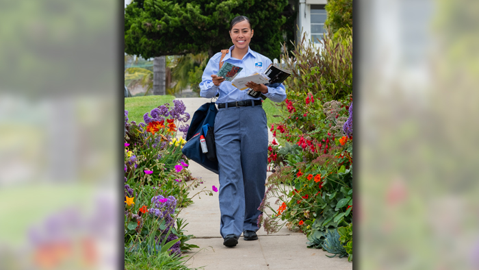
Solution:
{"label": "green lawn patch left of the woman, above the purple flowers", "polygon": [[174,96],[146,96],[146,97],[127,97],[125,99],[125,110],[128,111],[129,122],[135,121],[137,124],[143,121],[143,115],[154,108],[170,103],[173,105]]}

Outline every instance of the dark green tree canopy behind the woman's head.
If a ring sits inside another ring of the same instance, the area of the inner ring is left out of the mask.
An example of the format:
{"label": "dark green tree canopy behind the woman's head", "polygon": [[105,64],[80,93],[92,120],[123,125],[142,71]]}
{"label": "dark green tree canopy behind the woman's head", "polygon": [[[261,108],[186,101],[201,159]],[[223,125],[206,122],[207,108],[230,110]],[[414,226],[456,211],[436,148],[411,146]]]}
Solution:
{"label": "dark green tree canopy behind the woman's head", "polygon": [[255,30],[250,48],[279,58],[287,5],[287,0],[133,0],[125,8],[125,52],[143,58],[207,52],[211,58],[231,46],[229,23],[244,15]]}

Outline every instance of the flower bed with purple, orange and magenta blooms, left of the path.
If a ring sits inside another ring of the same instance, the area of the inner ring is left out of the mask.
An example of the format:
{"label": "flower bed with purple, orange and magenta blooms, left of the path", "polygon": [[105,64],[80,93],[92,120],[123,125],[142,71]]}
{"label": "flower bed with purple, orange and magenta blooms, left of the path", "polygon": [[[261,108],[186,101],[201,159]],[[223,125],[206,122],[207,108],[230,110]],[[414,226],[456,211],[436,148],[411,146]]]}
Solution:
{"label": "flower bed with purple, orange and magenta blooms, left of the path", "polygon": [[182,101],[173,103],[144,114],[139,124],[129,122],[125,110],[125,265],[132,269],[187,269],[181,254],[198,247],[186,243],[192,235],[177,218],[192,204],[190,188],[202,182],[187,169],[185,140],[177,137],[186,134],[190,114]]}

